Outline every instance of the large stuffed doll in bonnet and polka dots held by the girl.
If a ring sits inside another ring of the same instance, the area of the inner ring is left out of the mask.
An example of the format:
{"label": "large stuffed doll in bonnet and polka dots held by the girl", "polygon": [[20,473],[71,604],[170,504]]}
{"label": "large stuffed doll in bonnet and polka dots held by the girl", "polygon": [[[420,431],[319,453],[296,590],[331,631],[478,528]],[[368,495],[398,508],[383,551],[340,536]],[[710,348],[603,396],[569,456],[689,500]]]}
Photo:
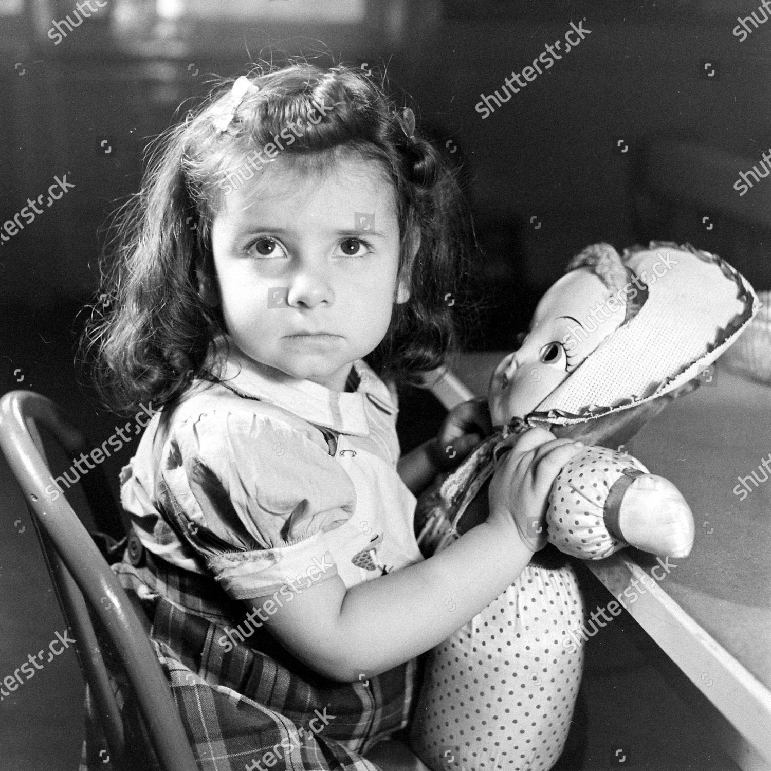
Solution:
{"label": "large stuffed doll in bonnet and polka dots held by the girl", "polygon": [[571,631],[584,608],[564,555],[601,559],[628,544],[689,554],[693,517],[677,488],[613,448],[692,390],[758,308],[725,261],[665,242],[622,257],[594,244],[541,299],[530,331],[490,379],[493,433],[419,498],[420,547],[433,554],[487,517],[495,458],[519,433],[544,426],[593,446],[554,481],[547,533],[536,521],[523,534],[549,547],[427,655],[412,746],[435,771],[556,763],[583,665]]}

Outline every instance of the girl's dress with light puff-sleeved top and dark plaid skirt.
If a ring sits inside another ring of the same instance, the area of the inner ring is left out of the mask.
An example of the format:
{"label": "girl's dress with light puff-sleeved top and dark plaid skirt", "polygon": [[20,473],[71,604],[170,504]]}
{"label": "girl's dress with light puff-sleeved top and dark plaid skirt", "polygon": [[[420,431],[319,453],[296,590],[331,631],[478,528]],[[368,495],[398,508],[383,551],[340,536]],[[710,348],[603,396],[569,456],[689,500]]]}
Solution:
{"label": "girl's dress with light puff-sleeved top and dark plaid skirt", "polygon": [[[123,469],[133,527],[113,571],[152,621],[200,769],[376,771],[361,753],[406,726],[416,662],[329,680],[243,600],[280,604],[303,567],[349,588],[423,559],[416,500],[396,473],[396,394],[362,360],[342,393],[279,385],[237,354],[217,374],[153,416]],[[92,706],[87,694],[79,771],[111,768]]]}

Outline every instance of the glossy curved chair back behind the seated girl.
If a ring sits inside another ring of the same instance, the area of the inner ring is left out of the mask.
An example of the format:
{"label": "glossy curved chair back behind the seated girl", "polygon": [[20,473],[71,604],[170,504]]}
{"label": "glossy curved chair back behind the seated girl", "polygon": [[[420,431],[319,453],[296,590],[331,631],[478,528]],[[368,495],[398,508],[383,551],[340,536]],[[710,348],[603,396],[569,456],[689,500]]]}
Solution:
{"label": "glossy curved chair back behind the seated girl", "polygon": [[[123,590],[66,497],[51,492],[52,473],[41,429],[72,459],[93,449],[45,396],[12,391],[0,399],[0,449],[22,488],[62,613],[75,635],[78,662],[113,764],[116,768],[137,769],[160,763],[163,771],[196,771],[180,714],[150,643],[149,621]],[[79,484],[96,524],[113,533],[122,527],[119,509],[99,466],[82,475]],[[149,747],[137,748],[124,730],[89,609],[133,689],[146,738],[157,760],[141,757],[142,752],[150,754]]]}

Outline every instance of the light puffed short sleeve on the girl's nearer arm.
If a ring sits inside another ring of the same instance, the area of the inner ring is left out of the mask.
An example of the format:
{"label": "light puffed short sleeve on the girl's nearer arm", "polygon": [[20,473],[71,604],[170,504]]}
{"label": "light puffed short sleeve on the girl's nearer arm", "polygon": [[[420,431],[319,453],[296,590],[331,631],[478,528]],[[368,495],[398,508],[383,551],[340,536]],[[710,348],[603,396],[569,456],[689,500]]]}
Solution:
{"label": "light puffed short sleeve on the girl's nearer arm", "polygon": [[227,594],[243,600],[337,574],[325,534],[352,517],[356,494],[310,432],[214,409],[170,434],[159,501]]}

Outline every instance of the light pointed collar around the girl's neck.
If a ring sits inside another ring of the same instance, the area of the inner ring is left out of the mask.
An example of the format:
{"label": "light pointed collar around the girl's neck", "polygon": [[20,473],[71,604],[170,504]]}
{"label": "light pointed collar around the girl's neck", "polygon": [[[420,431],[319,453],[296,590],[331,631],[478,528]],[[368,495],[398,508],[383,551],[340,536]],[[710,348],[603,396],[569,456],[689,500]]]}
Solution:
{"label": "light pointed collar around the girl's neck", "polygon": [[[359,375],[359,387],[353,392],[328,389],[311,380],[275,376],[274,370],[258,365],[227,336],[230,354],[225,355],[221,336],[214,342],[208,360],[208,369],[217,375],[227,388],[243,396],[270,402],[294,412],[295,415],[319,426],[355,436],[369,436],[367,412],[377,409],[388,415],[396,412],[388,386],[364,361],[357,359],[353,367]],[[219,368],[217,362],[221,362]]]}

